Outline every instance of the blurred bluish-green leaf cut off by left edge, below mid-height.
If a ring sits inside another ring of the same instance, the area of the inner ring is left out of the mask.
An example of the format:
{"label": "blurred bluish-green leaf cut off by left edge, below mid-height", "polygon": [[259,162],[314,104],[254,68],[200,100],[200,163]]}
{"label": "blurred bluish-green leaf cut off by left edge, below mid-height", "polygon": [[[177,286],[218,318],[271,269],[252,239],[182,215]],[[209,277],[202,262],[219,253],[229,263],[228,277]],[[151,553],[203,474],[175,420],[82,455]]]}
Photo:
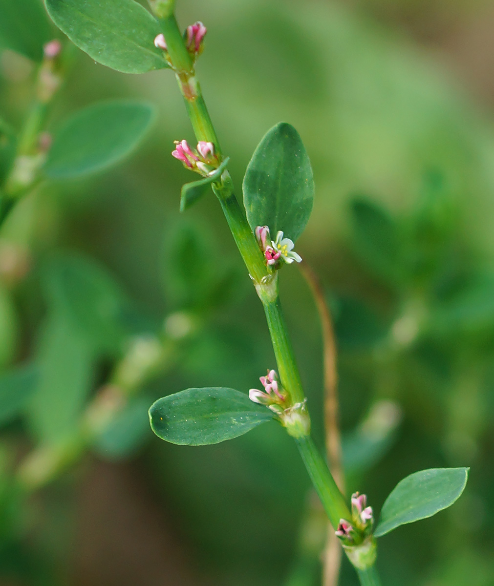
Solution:
{"label": "blurred bluish-green leaf cut off by left edge, below mid-height", "polygon": [[38,381],[33,364],[5,373],[0,378],[0,425],[12,420],[23,410]]}

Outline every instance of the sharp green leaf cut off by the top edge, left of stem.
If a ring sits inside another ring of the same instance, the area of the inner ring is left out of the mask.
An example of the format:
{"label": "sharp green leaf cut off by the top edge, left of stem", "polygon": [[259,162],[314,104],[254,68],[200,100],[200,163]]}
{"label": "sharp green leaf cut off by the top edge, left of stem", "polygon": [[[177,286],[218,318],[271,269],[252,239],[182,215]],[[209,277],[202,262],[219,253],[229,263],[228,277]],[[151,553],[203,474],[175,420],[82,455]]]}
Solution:
{"label": "sharp green leaf cut off by the top edge, left of stem", "polygon": [[94,61],[123,73],[168,67],[163,50],[154,46],[158,22],[134,0],[45,0],[45,5],[57,27]]}

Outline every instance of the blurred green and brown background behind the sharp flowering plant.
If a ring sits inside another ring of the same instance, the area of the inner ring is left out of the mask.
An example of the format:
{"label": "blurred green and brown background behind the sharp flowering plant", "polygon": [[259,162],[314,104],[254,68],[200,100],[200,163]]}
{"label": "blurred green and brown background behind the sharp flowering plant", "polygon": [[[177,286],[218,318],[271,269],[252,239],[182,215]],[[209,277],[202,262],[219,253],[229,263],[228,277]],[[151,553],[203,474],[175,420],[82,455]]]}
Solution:
{"label": "blurred green and brown background behind the sharp flowering plant", "polygon": [[[492,585],[492,3],[177,4],[183,28],[208,27],[197,72],[238,191],[276,122],[297,128],[312,160],[316,202],[297,251],[321,275],[336,322],[348,493],[366,492],[377,512],[411,472],[471,466],[451,509],[379,540],[384,586]],[[19,127],[33,64],[8,50],[0,59],[0,112]],[[37,373],[21,413],[0,421],[0,584],[320,584],[321,523],[307,529],[319,513],[280,427],[201,448],[148,428],[155,398],[247,391],[274,358],[214,196],[178,213],[190,176],[172,141],[193,137],[170,71],[128,76],[77,51],[48,130],[117,97],[158,109],[136,153],[96,178],[42,183],[0,233],[0,395]],[[281,277],[322,447],[316,309],[295,268]],[[70,444],[136,339],[144,362],[146,340],[160,339],[167,366],[89,454],[25,496],[12,482],[19,462],[37,445]],[[340,584],[356,584],[346,564]]]}

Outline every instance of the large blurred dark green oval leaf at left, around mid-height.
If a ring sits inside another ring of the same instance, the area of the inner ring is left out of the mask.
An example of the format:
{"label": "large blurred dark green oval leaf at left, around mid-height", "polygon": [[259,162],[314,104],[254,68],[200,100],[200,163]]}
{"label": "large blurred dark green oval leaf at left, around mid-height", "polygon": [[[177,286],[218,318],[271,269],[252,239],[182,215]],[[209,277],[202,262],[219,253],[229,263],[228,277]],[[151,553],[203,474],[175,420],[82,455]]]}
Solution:
{"label": "large blurred dark green oval leaf at left, around mid-height", "polygon": [[43,292],[59,315],[95,352],[120,349],[125,298],[108,272],[76,254],[57,254],[42,266]]}

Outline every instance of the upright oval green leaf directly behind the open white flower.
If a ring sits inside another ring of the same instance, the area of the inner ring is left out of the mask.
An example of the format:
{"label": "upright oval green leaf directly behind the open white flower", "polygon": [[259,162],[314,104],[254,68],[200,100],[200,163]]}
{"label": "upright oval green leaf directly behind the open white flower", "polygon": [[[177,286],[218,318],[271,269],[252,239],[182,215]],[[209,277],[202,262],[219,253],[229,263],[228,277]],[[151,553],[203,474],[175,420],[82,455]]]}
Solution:
{"label": "upright oval green leaf directly behind the open white flower", "polygon": [[271,128],[252,155],[243,178],[243,203],[252,230],[269,226],[295,241],[302,234],[314,200],[309,156],[299,133],[286,122]]}

